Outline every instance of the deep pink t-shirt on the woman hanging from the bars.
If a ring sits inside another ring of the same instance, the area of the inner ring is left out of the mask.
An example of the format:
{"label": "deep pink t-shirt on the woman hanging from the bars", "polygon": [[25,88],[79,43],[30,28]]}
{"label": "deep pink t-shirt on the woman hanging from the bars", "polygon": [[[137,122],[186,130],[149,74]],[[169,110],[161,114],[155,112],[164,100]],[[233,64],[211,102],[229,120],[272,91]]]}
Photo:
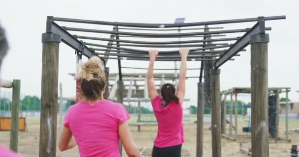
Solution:
{"label": "deep pink t-shirt on the woman hanging from the bars", "polygon": [[158,148],[171,147],[184,143],[183,109],[180,104],[171,102],[162,108],[162,98],[155,97],[151,105],[158,122],[158,133],[154,145]]}

